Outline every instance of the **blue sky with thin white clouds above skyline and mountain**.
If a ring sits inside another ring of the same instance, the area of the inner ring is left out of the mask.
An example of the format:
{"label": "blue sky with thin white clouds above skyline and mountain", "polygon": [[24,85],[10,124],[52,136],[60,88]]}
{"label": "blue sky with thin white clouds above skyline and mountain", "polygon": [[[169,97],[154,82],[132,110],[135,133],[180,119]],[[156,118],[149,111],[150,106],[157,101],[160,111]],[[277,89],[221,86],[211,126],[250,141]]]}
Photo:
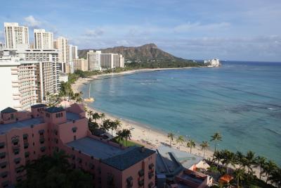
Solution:
{"label": "blue sky with thin white clouds above skyline and mountain", "polygon": [[281,61],[280,0],[3,0],[4,22],[43,28],[79,49],[141,46],[188,59]]}

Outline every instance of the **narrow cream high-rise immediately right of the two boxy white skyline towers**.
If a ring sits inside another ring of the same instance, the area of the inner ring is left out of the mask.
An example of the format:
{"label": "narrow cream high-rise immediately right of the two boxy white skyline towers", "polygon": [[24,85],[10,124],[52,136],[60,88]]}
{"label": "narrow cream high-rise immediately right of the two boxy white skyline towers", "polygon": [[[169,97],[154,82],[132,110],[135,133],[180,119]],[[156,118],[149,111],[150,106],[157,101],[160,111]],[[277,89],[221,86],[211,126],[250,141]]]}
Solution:
{"label": "narrow cream high-rise immediately right of the two boxy white skyline towers", "polygon": [[65,64],[69,62],[68,56],[68,40],[65,37],[58,37],[54,43],[54,48],[59,51],[60,62],[62,63],[62,71],[65,73]]}

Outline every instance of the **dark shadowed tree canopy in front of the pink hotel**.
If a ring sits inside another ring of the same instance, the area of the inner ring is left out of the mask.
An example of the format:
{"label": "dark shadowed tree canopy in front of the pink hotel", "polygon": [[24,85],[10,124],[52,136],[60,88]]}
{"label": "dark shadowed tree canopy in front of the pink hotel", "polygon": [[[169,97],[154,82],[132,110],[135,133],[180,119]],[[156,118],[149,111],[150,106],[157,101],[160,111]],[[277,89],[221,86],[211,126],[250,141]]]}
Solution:
{"label": "dark shadowed tree canopy in front of the pink hotel", "polygon": [[80,169],[73,169],[65,152],[53,153],[53,156],[42,156],[25,165],[27,179],[18,183],[17,188],[91,188],[93,177]]}

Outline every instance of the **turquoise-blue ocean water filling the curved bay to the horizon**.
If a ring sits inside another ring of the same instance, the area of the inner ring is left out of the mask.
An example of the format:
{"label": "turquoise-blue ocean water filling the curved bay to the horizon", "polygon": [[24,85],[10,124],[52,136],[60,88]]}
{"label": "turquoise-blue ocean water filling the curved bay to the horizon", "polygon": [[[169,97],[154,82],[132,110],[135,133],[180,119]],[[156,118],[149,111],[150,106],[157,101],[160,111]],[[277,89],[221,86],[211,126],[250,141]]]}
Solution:
{"label": "turquoise-blue ocean water filling the curved bay to the horizon", "polygon": [[91,94],[100,111],[197,142],[221,132],[219,149],[252,150],[281,165],[281,63],[103,77]]}

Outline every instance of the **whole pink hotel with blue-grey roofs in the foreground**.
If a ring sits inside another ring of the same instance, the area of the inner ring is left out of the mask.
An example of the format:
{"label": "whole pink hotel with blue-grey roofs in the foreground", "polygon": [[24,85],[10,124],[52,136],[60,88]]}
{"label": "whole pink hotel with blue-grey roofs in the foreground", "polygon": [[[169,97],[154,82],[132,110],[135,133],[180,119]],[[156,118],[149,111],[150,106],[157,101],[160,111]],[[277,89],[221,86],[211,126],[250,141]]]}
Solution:
{"label": "whole pink hotel with blue-grey roofs in the foreground", "polygon": [[25,179],[22,165],[63,150],[73,168],[93,175],[93,187],[155,187],[156,153],[125,148],[89,132],[83,106],[32,106],[31,111],[6,108],[0,119],[0,187]]}

